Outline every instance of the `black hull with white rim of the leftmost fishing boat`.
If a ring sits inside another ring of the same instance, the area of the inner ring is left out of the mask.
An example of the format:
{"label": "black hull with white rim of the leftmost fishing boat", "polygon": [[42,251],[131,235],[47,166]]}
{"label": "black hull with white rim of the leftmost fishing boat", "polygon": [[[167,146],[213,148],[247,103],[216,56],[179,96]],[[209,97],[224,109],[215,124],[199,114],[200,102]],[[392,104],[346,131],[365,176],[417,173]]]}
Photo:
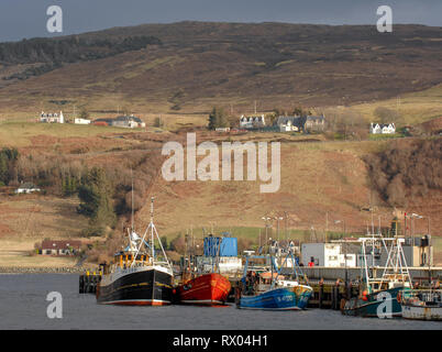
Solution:
{"label": "black hull with white rim of the leftmost fishing boat", "polygon": [[97,302],[125,306],[163,306],[172,304],[173,276],[154,267],[121,273],[101,279]]}

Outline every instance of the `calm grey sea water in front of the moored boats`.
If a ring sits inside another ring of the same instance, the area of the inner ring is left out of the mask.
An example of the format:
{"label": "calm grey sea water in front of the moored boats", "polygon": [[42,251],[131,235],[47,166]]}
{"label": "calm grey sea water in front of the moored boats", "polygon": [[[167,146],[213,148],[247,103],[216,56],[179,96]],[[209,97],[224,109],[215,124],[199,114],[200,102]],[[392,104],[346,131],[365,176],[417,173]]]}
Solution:
{"label": "calm grey sea water in front of the moored boats", "polygon": [[[48,318],[46,300],[60,294],[62,318]],[[167,329],[167,330],[311,330],[437,329],[442,322],[342,316],[329,309],[262,311],[223,307],[125,307],[98,305],[95,295],[78,294],[78,275],[0,274],[0,329]],[[189,323],[191,322],[191,323]]]}

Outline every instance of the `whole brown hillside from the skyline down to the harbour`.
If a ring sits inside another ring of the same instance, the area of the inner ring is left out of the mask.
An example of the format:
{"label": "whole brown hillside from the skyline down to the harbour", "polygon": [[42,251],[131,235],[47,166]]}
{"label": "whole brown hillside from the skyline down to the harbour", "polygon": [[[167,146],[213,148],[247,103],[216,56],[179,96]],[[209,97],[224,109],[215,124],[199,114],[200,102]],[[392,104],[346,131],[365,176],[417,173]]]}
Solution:
{"label": "whole brown hillside from the skyline down to the harbour", "polygon": [[[252,112],[254,101],[258,111],[301,105],[327,113],[349,112],[364,123],[373,121],[376,108],[386,107],[398,111],[405,124],[435,135],[442,116],[441,34],[441,28],[421,25],[397,25],[394,33],[379,34],[375,26],[363,25],[180,22],[0,44],[0,147],[16,147],[18,174],[47,191],[24,198],[1,195],[0,241],[8,251],[0,254],[20,262],[44,237],[85,235],[89,219],[76,212],[79,200],[75,194],[63,194],[63,185],[93,166],[102,167],[115,185],[119,216],[113,242],[101,252],[121,246],[121,229],[130,217],[132,167],[140,209],[136,229],[147,224],[146,200],[155,196],[158,231],[169,240],[189,228],[201,238],[201,228],[213,227],[218,232],[234,229],[256,241],[266,215],[288,216],[288,232],[303,239],[312,233],[321,238],[325,228],[342,232],[343,221],[347,233],[363,233],[372,222],[366,211],[371,204],[376,206],[375,226],[380,220],[388,227],[394,209],[388,197],[382,197],[383,187],[368,186],[364,161],[387,151],[395,140],[198,131],[198,143],[280,141],[281,185],[275,194],[261,194],[261,182],[167,183],[158,177],[161,147],[167,141],[184,141],[186,129],[206,127],[214,105],[239,116]],[[64,51],[66,43],[74,45]],[[92,118],[132,111],[147,128],[35,123],[41,110],[64,110],[69,119],[74,109],[78,113],[82,108]],[[153,128],[158,114],[164,130]],[[399,143],[415,140],[420,141]],[[422,152],[427,150],[431,148]],[[433,154],[431,163],[422,157],[422,165],[416,163],[419,168],[402,172],[404,184],[406,178],[420,183],[416,174],[435,173],[437,154],[426,153]],[[385,178],[395,176],[386,167],[378,169]],[[9,188],[15,186],[16,180]],[[440,186],[407,198],[407,206],[398,205],[395,213],[431,217],[431,232],[440,235]],[[274,233],[276,226],[274,221]],[[426,221],[416,223],[417,233],[426,230]],[[442,241],[438,243],[442,250]]]}

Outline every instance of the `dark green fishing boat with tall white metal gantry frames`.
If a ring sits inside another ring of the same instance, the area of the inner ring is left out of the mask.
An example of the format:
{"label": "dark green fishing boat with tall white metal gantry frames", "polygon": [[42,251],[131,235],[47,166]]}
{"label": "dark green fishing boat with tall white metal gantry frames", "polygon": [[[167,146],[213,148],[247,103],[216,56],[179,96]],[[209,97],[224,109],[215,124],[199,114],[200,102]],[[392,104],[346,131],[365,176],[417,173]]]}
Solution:
{"label": "dark green fishing boat with tall white metal gantry frames", "polygon": [[[372,238],[361,238],[363,256],[363,283],[360,296],[349,300],[343,299],[341,311],[345,316],[393,318],[402,315],[401,306],[397,299],[399,293],[411,288],[410,274],[404,255],[400,238],[383,238],[380,234]],[[390,243],[388,250],[387,243]],[[383,276],[377,278],[375,266],[368,265],[367,248],[371,248],[372,260],[374,252],[384,245],[388,253]]]}

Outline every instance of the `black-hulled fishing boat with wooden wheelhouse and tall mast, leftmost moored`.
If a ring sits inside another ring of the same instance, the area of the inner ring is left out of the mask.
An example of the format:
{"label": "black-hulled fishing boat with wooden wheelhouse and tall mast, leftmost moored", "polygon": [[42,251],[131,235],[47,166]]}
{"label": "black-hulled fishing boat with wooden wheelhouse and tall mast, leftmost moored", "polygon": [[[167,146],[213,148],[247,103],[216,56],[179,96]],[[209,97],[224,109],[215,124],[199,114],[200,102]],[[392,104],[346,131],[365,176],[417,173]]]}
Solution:
{"label": "black-hulled fishing boat with wooden wheelhouse and tall mast, leftmost moored", "polygon": [[[107,305],[163,306],[173,300],[173,270],[153,222],[154,198],[151,199],[151,222],[143,237],[128,229],[129,245],[115,253],[113,262],[103,264],[97,287],[97,301]],[[146,237],[150,235],[150,243]],[[155,239],[162,255],[155,252]]]}

